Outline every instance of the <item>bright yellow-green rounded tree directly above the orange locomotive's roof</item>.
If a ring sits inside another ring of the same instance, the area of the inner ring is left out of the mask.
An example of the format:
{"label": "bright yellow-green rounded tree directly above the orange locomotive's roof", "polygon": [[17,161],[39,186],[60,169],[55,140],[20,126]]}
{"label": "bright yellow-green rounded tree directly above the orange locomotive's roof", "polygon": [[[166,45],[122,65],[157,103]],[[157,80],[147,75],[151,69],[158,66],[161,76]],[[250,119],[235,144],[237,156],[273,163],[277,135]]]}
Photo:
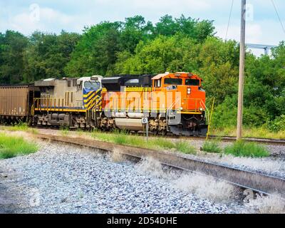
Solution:
{"label": "bright yellow-green rounded tree directly above the orange locomotive's roof", "polygon": [[158,36],[153,41],[140,42],[132,55],[128,51],[119,53],[115,73],[161,73],[182,71],[189,61],[195,41],[177,33],[175,36]]}

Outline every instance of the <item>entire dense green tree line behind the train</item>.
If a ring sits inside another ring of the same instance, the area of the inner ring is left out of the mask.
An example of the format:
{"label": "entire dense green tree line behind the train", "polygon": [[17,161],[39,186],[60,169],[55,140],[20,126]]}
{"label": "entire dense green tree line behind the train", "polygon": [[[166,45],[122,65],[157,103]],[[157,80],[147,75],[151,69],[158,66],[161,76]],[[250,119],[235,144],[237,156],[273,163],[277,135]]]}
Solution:
{"label": "entire dense green tree line behind the train", "polygon": [[[213,21],[162,16],[157,24],[142,16],[104,21],[83,34],[15,31],[0,33],[0,83],[41,78],[190,71],[204,79],[214,125],[236,124],[239,44],[214,36]],[[285,43],[271,56],[247,52],[244,123],[285,130]]]}

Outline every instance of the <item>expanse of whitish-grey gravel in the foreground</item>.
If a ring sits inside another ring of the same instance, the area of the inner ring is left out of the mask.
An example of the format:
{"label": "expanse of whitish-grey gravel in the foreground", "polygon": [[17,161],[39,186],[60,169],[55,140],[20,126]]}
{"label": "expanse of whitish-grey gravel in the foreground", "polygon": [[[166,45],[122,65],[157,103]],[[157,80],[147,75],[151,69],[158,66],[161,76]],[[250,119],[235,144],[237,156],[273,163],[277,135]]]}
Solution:
{"label": "expanse of whitish-grey gravel in the foreground", "polygon": [[177,189],[130,162],[111,162],[89,149],[42,142],[26,157],[0,160],[0,212],[14,213],[239,213]]}

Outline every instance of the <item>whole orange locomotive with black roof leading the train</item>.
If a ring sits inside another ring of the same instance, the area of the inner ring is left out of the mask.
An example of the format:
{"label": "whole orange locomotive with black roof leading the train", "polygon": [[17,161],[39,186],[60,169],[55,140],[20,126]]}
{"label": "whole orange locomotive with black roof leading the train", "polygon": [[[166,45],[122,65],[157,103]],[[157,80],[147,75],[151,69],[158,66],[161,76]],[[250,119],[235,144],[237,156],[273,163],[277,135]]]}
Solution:
{"label": "whole orange locomotive with black roof leading the train", "polygon": [[206,135],[206,93],[202,79],[192,73],[103,78],[102,103],[93,113],[98,128],[144,130],[152,133]]}

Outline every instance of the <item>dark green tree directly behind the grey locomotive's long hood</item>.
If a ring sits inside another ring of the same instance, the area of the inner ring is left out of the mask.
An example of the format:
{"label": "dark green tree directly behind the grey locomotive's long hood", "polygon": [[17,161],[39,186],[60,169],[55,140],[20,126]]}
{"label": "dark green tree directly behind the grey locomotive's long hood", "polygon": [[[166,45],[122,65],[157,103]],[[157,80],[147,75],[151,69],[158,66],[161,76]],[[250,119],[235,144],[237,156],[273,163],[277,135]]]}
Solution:
{"label": "dark green tree directly behind the grey locomotive's long hood", "polygon": [[35,32],[30,37],[25,53],[24,80],[33,82],[42,78],[63,78],[64,67],[71,61],[71,53],[80,39],[77,33],[60,35]]}

